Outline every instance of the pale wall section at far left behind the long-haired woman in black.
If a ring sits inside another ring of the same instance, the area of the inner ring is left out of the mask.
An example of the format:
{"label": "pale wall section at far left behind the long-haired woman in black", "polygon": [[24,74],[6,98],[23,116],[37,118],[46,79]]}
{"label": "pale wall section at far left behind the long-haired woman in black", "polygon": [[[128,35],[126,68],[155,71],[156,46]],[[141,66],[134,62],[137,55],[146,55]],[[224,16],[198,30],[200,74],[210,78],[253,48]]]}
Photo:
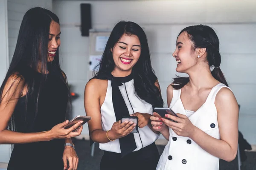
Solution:
{"label": "pale wall section at far left behind the long-haired woman in black", "polygon": [[[52,10],[52,0],[0,0],[0,84],[13,56],[23,15],[35,6]],[[0,162],[9,162],[10,154],[10,145],[1,144]]]}

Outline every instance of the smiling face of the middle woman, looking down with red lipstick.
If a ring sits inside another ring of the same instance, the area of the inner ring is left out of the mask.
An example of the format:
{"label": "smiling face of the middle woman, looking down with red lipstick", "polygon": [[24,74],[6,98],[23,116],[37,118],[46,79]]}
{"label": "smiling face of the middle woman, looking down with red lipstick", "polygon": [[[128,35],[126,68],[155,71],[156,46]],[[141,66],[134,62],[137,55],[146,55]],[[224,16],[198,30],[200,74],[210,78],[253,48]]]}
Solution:
{"label": "smiling face of the middle woman, looking down with red lipstick", "polygon": [[140,40],[136,35],[123,34],[111,51],[115,62],[113,72],[130,74],[140,58]]}

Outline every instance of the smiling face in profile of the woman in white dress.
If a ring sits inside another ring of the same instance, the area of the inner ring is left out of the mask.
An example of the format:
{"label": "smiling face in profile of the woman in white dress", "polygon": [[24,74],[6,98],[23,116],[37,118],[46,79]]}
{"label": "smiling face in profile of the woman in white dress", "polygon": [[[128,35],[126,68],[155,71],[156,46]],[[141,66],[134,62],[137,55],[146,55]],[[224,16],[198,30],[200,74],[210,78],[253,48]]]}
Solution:
{"label": "smiling face in profile of the woman in white dress", "polygon": [[177,38],[176,49],[172,56],[177,61],[176,71],[180,73],[187,73],[189,68],[197,64],[197,52],[193,50],[193,43],[186,32],[181,33]]}

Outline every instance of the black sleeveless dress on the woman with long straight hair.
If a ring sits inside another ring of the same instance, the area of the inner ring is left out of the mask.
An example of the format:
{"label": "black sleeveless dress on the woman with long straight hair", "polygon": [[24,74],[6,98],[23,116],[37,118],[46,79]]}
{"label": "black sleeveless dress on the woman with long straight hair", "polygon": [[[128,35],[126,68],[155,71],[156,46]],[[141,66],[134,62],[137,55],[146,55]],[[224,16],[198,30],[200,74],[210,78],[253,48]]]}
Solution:
{"label": "black sleeveless dress on the woman with long straight hair", "polygon": [[[60,71],[59,71],[60,72]],[[35,82],[33,95],[26,95],[19,99],[13,113],[17,132],[31,133],[51,130],[51,128],[65,121],[67,110],[67,87],[60,74],[49,71],[46,82],[42,76],[30,67],[20,69],[19,73],[26,83]],[[39,97],[37,92],[41,86]],[[25,104],[27,99],[27,105]],[[36,101],[38,99],[38,111]],[[35,114],[37,113],[37,114]],[[64,139],[15,144],[7,170],[63,170],[62,161]]]}

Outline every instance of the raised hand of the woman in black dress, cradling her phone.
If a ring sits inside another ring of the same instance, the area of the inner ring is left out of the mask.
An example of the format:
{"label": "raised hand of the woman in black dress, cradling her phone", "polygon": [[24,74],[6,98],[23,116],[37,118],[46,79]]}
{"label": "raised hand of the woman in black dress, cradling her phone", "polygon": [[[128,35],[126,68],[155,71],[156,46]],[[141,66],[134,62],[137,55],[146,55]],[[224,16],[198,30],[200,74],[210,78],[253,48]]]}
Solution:
{"label": "raised hand of the woman in black dress, cradling her phone", "polygon": [[79,136],[81,134],[81,132],[83,130],[83,126],[79,127],[79,125],[81,125],[81,123],[83,123],[83,121],[77,122],[75,125],[71,126],[68,129],[64,129],[63,127],[65,125],[67,125],[68,122],[69,121],[66,120],[65,122],[62,122],[62,123],[52,127],[52,129],[49,130],[51,139],[68,139],[71,137]]}

